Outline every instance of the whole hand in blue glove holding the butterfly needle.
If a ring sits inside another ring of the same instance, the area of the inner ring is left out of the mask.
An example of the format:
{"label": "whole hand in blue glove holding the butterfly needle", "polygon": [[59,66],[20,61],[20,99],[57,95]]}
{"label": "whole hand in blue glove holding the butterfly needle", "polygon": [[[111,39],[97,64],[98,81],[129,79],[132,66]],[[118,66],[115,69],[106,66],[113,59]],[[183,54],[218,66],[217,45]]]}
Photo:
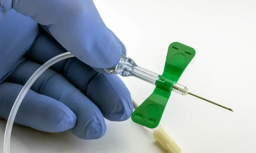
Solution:
{"label": "whole hand in blue glove holding the butterfly needle", "polygon": [[36,80],[15,123],[46,132],[70,129],[81,139],[97,139],[106,132],[104,118],[128,119],[133,110],[129,90],[118,76],[99,73],[117,64],[126,50],[92,0],[0,0],[0,118],[8,119],[30,76],[67,51],[76,58],[56,63]]}

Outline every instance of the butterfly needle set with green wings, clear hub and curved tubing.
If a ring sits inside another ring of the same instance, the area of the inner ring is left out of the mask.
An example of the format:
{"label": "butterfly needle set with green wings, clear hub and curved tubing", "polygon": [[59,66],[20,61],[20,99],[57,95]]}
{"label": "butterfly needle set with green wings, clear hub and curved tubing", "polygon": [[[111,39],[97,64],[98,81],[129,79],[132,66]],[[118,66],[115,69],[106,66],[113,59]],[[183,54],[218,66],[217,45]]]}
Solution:
{"label": "butterfly needle set with green wings, clear hub and curved tubing", "polygon": [[[225,108],[227,110],[233,111],[228,107],[205,99],[201,96],[195,95],[189,92],[186,86],[177,83],[180,76],[189,65],[191,60],[194,58],[194,56],[195,50],[193,48],[178,42],[174,42],[169,45],[164,72],[162,75],[158,75],[137,66],[132,59],[127,58],[124,55],[122,55],[120,62],[115,67],[105,69],[105,71],[109,74],[117,74],[120,76],[135,76],[156,86],[153,93],[141,105],[137,105],[131,115],[131,119],[133,120],[133,122],[143,125],[146,128],[154,129],[159,126],[159,122],[161,120],[165,106],[167,104],[167,101],[169,100],[172,91],[181,95],[189,94],[203,99],[207,102],[213,103],[222,108]],[[13,122],[19,106],[26,93],[28,92],[29,88],[46,69],[48,69],[53,64],[70,57],[74,56],[71,53],[67,52],[50,59],[45,64],[43,64],[24,85],[17,99],[14,102],[7,121],[4,135],[4,153],[10,153],[10,136]],[[155,135],[155,139],[158,139],[159,142],[164,142],[163,139],[171,142],[171,139],[164,136],[164,133],[165,132],[162,129],[157,129],[155,130],[153,135]],[[166,144],[164,145],[166,146]]]}

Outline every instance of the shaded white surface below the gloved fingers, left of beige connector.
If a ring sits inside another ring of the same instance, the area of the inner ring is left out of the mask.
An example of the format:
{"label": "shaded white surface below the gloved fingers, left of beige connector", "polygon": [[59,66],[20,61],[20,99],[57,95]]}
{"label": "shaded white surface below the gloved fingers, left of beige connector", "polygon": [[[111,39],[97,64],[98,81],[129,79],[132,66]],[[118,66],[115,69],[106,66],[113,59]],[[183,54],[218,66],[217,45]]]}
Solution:
{"label": "shaded white surface below the gloved fingers, left of beige connector", "polygon": [[[14,125],[11,135],[11,152],[26,153],[164,153],[155,143],[152,133],[130,119],[124,122],[107,123],[106,134],[98,140],[81,140],[69,131],[47,133],[29,127]],[[6,121],[0,120],[0,143],[3,152],[3,138]],[[127,134],[129,133],[129,134]]]}

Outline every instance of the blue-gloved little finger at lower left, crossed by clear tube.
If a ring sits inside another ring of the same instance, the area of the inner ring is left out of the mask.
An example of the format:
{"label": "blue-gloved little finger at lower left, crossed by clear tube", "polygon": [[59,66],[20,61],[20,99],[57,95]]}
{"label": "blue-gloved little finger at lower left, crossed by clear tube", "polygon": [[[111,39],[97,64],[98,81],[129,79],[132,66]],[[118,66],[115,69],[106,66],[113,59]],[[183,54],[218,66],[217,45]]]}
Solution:
{"label": "blue-gloved little finger at lower left, crossed by clear tube", "polygon": [[[0,84],[0,117],[8,119],[13,103],[22,85],[3,82]],[[38,94],[31,89],[24,97],[15,123],[45,132],[62,132],[76,125],[77,117],[66,105],[51,97]]]}

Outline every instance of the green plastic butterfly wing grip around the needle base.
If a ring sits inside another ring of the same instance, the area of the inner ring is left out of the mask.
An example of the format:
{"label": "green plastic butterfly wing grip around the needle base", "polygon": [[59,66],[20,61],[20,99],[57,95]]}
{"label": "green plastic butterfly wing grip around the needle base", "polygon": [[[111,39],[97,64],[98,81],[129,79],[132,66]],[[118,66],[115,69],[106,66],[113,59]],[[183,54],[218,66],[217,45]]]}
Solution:
{"label": "green plastic butterfly wing grip around the needle base", "polygon": [[187,68],[196,52],[193,48],[174,42],[169,45],[164,72],[158,76],[153,93],[132,113],[132,121],[156,128],[171,95],[172,86]]}

